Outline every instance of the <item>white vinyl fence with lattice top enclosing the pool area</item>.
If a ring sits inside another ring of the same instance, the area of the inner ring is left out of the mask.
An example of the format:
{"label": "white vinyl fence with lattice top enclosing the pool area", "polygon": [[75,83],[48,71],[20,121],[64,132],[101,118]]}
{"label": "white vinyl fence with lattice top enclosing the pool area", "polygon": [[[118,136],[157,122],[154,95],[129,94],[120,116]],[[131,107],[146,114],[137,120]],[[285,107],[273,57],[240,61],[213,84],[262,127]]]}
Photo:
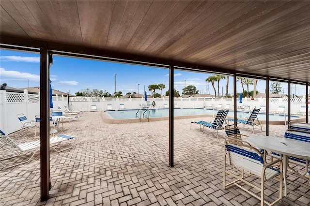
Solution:
{"label": "white vinyl fence with lattice top enclosing the pool area", "polygon": [[[155,102],[155,106],[153,106]],[[301,105],[305,105],[305,98],[291,98],[291,114],[298,114]],[[209,104],[217,107],[222,104],[225,108],[230,104],[230,109],[233,109],[233,99],[213,99],[213,98],[175,98],[174,103],[177,103],[180,108],[205,108]],[[141,104],[149,104],[150,108],[164,108],[164,104],[169,105],[167,98],[151,98],[144,101],[141,98],[105,98],[105,97],[67,97],[53,96],[54,110],[57,106],[64,108],[64,105],[69,106],[72,111],[90,111],[91,105],[96,104],[97,111],[107,110],[107,105],[111,104],[114,110],[120,109],[120,104],[124,104],[125,109],[139,109]],[[237,106],[248,105],[251,109],[260,108],[261,105],[266,105],[266,100],[263,98],[242,99],[242,103],[237,100]],[[277,111],[279,106],[285,106],[286,113],[288,112],[287,98],[270,98],[269,111]],[[21,129],[21,123],[17,118],[17,114],[23,113],[30,120],[34,119],[35,115],[40,114],[40,94],[6,92],[0,90],[0,129],[6,133],[16,132]]]}

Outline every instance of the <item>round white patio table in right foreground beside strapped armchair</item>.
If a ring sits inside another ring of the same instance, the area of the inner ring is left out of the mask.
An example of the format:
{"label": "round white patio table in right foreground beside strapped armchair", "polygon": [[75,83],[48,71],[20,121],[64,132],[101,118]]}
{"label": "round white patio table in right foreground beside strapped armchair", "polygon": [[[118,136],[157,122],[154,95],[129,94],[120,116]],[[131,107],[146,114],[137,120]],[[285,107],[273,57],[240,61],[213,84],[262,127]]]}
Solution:
{"label": "round white patio table in right foreground beside strapped armchair", "polygon": [[249,136],[247,142],[251,146],[283,155],[284,196],[287,196],[286,172],[288,157],[294,156],[310,160],[310,143],[274,136]]}

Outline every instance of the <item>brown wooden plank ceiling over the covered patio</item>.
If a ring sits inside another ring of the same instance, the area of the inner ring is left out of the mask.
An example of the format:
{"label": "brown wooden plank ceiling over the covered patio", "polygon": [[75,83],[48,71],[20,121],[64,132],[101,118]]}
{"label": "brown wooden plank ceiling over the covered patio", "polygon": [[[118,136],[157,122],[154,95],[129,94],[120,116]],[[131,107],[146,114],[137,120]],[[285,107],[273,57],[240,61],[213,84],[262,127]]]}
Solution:
{"label": "brown wooden plank ceiling over the covered patio", "polygon": [[0,1],[0,35],[310,82],[310,1]]}

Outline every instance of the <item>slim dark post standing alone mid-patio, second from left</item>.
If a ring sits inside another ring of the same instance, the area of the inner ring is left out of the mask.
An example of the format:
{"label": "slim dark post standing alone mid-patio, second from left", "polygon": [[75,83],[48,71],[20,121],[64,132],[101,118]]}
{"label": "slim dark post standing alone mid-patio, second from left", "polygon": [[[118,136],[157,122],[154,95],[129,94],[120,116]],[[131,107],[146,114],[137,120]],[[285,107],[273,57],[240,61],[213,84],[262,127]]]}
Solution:
{"label": "slim dark post standing alone mid-patio, second from left", "polygon": [[169,66],[169,166],[173,167],[174,67]]}

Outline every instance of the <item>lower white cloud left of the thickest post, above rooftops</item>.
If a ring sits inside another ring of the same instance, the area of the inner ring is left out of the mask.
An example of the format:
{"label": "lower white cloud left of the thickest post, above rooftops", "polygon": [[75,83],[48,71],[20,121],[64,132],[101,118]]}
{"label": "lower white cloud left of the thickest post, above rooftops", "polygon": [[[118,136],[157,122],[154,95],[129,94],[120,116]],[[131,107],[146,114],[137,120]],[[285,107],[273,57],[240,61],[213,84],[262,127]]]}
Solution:
{"label": "lower white cloud left of the thickest post, above rooftops", "polygon": [[0,68],[0,74],[2,79],[6,78],[7,80],[29,79],[30,81],[40,81],[40,75],[18,71],[7,71],[4,68]]}

